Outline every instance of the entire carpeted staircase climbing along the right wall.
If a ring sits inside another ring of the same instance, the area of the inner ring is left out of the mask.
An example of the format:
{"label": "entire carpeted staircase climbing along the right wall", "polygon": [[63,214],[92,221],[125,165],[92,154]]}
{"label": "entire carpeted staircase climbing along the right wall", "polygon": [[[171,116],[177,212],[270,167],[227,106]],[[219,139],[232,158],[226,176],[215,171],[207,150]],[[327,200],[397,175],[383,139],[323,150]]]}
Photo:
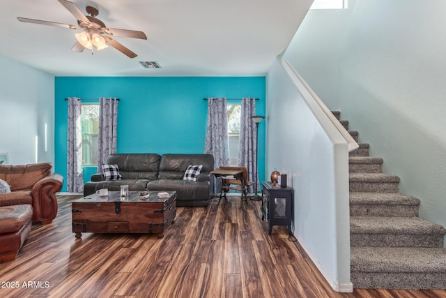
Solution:
{"label": "entire carpeted staircase climbing along the right wall", "polygon": [[420,200],[399,193],[399,177],[383,174],[382,165],[369,157],[369,144],[350,154],[353,288],[446,289],[446,229],[419,218]]}

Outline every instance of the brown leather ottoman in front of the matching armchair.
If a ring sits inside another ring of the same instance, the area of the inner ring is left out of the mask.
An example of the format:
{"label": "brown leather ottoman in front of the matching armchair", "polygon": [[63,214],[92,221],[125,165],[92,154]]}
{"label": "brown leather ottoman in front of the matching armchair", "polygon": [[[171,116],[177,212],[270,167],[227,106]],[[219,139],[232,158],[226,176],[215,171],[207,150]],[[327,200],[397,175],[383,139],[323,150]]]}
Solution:
{"label": "brown leather ottoman in front of the matching armchair", "polygon": [[0,261],[15,260],[31,231],[32,217],[29,204],[0,207]]}

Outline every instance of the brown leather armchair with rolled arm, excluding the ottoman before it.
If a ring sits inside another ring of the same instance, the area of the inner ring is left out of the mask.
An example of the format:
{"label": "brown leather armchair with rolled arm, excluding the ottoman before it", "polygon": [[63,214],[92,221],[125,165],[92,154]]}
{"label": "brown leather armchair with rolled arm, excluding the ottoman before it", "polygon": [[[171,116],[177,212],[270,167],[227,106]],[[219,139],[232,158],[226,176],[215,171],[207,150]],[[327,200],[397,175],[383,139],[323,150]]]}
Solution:
{"label": "brown leather armchair with rolled arm, excluding the ottoman before it", "polygon": [[0,207],[31,204],[33,222],[52,223],[57,214],[56,192],[63,177],[51,172],[51,163],[0,165],[0,179],[10,185],[10,193],[0,193]]}

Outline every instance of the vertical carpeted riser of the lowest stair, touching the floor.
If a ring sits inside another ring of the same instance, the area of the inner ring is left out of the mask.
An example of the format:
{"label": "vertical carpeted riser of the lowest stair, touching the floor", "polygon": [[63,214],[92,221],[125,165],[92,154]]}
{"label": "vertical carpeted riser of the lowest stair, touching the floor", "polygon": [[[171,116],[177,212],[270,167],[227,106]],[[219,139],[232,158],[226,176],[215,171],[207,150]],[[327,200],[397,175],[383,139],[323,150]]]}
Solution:
{"label": "vertical carpeted riser of the lowest stair, touching the floor", "polygon": [[363,289],[446,289],[446,272],[394,273],[351,272],[353,288]]}

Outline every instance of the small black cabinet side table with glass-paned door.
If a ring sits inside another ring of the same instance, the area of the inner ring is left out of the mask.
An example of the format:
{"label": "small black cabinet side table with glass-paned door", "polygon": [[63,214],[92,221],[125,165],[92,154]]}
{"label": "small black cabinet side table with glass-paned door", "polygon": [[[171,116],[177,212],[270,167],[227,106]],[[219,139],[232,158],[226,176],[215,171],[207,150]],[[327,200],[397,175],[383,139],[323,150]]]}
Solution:
{"label": "small black cabinet side table with glass-paned door", "polygon": [[291,187],[273,186],[270,181],[262,181],[262,221],[268,220],[268,234],[273,225],[288,226],[291,235],[291,216],[293,211],[294,189]]}

